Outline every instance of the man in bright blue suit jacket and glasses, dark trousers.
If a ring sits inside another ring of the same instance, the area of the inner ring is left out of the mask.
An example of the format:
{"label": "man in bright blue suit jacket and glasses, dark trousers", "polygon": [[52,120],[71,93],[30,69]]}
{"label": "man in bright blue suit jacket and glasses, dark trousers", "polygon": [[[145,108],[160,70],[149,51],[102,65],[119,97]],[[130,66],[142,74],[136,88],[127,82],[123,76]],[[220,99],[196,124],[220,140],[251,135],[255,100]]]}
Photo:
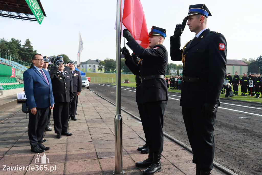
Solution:
{"label": "man in bright blue suit jacket and glasses, dark trousers", "polygon": [[49,73],[42,69],[44,59],[41,54],[32,57],[34,66],[24,72],[24,89],[29,112],[28,137],[31,151],[41,153],[49,150],[43,143],[48,108],[53,109],[54,97]]}

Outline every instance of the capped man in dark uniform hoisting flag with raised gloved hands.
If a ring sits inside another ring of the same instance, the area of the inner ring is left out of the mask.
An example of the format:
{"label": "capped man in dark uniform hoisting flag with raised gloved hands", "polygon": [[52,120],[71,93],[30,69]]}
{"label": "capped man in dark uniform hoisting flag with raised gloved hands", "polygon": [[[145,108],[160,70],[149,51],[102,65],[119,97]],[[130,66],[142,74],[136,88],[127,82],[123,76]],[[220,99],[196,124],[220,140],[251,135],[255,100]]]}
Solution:
{"label": "capped man in dark uniform hoisting flag with raised gloved hands", "polygon": [[[152,26],[149,33],[149,49],[141,47],[127,29],[123,30],[123,37],[127,45],[142,59],[140,66],[141,106],[147,125],[144,132],[148,132],[146,143],[149,146],[148,159],[137,162],[138,167],[148,167],[143,174],[155,174],[162,170],[161,153],[163,151],[163,116],[168,100],[165,72],[168,53],[162,45],[166,37],[166,30]],[[125,57],[130,56],[125,55]]]}

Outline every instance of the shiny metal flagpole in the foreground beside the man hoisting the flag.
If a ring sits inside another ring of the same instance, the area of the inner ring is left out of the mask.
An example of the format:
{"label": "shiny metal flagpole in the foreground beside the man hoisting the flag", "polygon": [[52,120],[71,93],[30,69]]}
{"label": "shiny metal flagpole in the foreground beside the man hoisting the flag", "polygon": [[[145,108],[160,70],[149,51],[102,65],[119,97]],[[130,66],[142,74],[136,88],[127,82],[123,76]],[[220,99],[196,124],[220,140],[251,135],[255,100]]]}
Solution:
{"label": "shiny metal flagpole in the foreground beside the man hoisting the flag", "polygon": [[123,146],[122,146],[122,116],[120,105],[120,48],[121,48],[121,0],[117,0],[117,30],[116,30],[116,116],[115,127],[115,171],[113,174],[124,174],[123,171]]}

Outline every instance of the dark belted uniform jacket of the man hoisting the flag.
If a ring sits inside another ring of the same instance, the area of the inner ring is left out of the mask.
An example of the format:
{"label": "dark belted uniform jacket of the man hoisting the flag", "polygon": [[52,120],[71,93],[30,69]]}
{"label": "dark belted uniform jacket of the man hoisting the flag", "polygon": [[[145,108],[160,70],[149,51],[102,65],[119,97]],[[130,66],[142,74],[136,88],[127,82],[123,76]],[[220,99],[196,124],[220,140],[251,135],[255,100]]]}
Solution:
{"label": "dark belted uniform jacket of the man hoisting the flag", "polygon": [[[140,66],[140,76],[165,75],[168,53],[162,44],[151,49],[141,47],[134,39],[127,43],[128,47],[143,59]],[[141,103],[168,100],[167,86],[164,78],[141,82]]]}

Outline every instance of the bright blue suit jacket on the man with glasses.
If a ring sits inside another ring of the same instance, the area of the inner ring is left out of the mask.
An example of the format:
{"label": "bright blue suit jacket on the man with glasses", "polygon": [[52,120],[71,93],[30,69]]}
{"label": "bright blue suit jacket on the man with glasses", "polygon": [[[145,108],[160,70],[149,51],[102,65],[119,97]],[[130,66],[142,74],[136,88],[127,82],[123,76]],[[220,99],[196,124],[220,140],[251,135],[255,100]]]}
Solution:
{"label": "bright blue suit jacket on the man with glasses", "polygon": [[42,70],[46,75],[49,85],[35,66],[24,71],[23,74],[26,103],[30,109],[33,107],[44,108],[50,106],[50,104],[54,104],[50,75],[48,71]]}

